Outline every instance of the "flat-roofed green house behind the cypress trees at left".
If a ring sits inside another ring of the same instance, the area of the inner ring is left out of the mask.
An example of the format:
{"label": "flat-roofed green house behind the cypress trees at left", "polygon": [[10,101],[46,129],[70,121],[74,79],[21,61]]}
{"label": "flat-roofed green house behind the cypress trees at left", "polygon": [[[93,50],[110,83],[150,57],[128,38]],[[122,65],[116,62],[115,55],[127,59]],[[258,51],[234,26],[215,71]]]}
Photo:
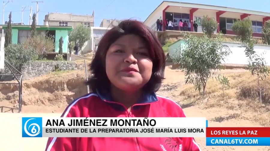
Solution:
{"label": "flat-roofed green house behind the cypress trees at left", "polygon": [[[1,26],[1,25],[0,25]],[[2,28],[4,30],[7,29],[7,25],[2,25]],[[12,43],[18,44],[24,42],[27,38],[30,38],[30,25],[12,25]],[[54,37],[55,42],[55,53],[59,52],[59,39],[61,36],[63,37],[64,43],[63,43],[63,53],[68,52],[68,33],[73,30],[70,26],[37,26],[36,30],[40,34],[45,34],[47,36]]]}

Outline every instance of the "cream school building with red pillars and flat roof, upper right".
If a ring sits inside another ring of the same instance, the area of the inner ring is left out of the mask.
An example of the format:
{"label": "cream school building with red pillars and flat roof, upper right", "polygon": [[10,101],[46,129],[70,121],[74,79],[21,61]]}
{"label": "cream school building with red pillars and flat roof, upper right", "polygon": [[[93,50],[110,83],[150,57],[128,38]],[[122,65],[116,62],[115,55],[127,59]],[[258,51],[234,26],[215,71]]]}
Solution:
{"label": "cream school building with red pillars and flat roof, upper right", "polygon": [[[193,22],[198,24],[197,32],[202,32],[200,21],[203,16],[208,16],[217,21],[218,28],[215,33],[222,32],[226,35],[235,35],[232,24],[238,19],[249,18],[252,21],[253,37],[262,37],[262,26],[270,20],[270,13],[244,10],[238,8],[221,7],[205,4],[192,4],[175,1],[163,1],[144,21],[144,24],[157,30],[157,19],[163,20],[162,31],[165,31],[165,20],[190,21],[191,32],[194,31]],[[178,29],[179,30],[179,29]]]}

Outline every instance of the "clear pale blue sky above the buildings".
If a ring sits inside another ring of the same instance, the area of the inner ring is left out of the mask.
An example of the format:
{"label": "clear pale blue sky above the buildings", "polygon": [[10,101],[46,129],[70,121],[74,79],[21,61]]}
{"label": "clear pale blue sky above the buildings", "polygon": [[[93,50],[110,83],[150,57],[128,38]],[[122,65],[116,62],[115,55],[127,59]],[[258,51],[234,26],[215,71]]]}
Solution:
{"label": "clear pale blue sky above the buildings", "polygon": [[[4,0],[7,1],[7,0]],[[11,1],[11,0],[10,0]],[[36,12],[34,0],[13,0],[4,8],[4,21],[8,20],[8,14],[12,11],[13,23],[21,22],[22,7],[26,7],[23,13],[23,23],[29,23],[30,6]],[[37,1],[37,0],[36,0]],[[162,0],[38,0],[39,4],[38,24],[43,25],[44,16],[48,12],[72,13],[77,15],[92,14],[95,11],[95,26],[99,26],[102,19],[129,19],[137,18],[144,21]],[[210,4],[224,7],[234,7],[247,10],[270,12],[269,0],[171,0],[198,4]],[[2,2],[3,4],[3,2]],[[2,7],[2,5],[1,5]],[[1,11],[2,12],[2,11]],[[2,20],[2,15],[1,15]],[[1,24],[1,23],[0,23]]]}

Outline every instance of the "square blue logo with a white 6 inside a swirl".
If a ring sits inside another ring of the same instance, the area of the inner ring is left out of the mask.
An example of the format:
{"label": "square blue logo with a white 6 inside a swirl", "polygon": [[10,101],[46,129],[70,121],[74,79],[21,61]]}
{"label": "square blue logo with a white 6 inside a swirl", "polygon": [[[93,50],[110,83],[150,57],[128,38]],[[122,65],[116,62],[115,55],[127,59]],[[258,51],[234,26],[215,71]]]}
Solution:
{"label": "square blue logo with a white 6 inside a swirl", "polygon": [[42,137],[42,118],[22,118],[22,137]]}

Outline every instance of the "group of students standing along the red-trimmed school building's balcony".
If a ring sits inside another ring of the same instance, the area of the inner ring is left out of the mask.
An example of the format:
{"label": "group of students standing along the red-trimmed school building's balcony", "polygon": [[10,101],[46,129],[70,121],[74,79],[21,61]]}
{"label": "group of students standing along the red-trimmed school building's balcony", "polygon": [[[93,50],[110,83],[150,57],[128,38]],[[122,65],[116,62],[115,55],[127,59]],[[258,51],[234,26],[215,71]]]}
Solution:
{"label": "group of students standing along the red-trimmed school building's balcony", "polygon": [[[162,20],[157,20],[157,31],[162,31]],[[174,20],[168,20],[165,21],[166,30],[178,30],[178,31],[191,31],[191,23],[190,21],[182,21],[182,19],[178,21],[176,19]],[[196,24],[196,21],[193,22],[194,31],[198,31],[198,24]]]}

